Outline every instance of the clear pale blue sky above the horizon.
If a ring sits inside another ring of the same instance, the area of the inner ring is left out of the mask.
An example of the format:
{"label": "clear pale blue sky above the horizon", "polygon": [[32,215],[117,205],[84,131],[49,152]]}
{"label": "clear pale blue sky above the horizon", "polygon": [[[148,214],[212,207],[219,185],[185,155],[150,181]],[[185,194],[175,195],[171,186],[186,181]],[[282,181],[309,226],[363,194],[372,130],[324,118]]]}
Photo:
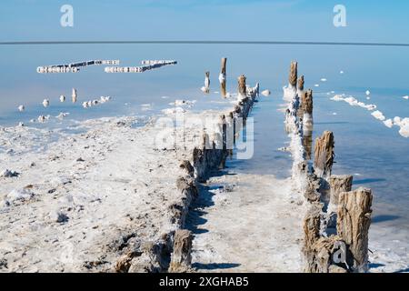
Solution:
{"label": "clear pale blue sky above the horizon", "polygon": [[[74,27],[60,7],[74,7]],[[333,25],[334,5],[347,27]],[[346,0],[3,0],[0,40],[288,40],[409,43],[409,2]]]}

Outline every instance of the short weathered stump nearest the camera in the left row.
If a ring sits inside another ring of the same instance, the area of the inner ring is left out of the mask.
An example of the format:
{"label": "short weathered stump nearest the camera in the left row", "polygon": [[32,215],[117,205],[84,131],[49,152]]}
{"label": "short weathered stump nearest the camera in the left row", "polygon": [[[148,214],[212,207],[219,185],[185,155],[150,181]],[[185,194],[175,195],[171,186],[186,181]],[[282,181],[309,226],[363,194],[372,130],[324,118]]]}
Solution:
{"label": "short weathered stump nearest the camera in the left row", "polygon": [[172,253],[169,272],[183,273],[189,271],[192,265],[193,236],[187,229],[175,231],[174,252]]}

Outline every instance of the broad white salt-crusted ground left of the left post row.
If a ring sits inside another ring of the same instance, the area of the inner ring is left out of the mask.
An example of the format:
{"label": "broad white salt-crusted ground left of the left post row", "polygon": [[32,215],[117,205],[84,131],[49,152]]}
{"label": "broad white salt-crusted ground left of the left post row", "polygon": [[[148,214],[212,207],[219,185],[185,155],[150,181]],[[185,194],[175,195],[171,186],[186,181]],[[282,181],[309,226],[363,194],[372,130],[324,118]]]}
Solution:
{"label": "broad white salt-crusted ground left of the left post row", "polygon": [[90,120],[46,146],[47,130],[2,131],[0,168],[18,176],[0,177],[0,271],[110,271],[126,246],[174,227],[178,152],[156,148],[158,129],[135,122]]}

